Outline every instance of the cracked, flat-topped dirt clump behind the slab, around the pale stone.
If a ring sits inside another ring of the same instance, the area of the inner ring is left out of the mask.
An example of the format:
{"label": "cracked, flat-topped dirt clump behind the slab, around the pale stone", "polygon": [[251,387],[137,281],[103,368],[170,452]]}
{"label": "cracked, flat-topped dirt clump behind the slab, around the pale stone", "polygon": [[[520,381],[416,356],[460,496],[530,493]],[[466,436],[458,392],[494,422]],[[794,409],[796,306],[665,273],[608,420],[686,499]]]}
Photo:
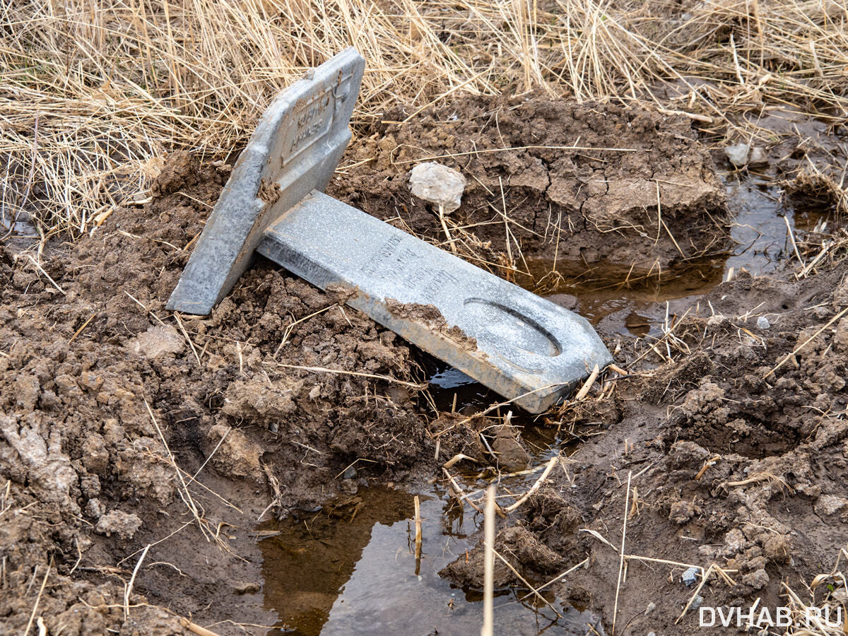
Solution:
{"label": "cracked, flat-topped dirt clump behind the slab, around the pale stone", "polygon": [[[506,267],[511,251],[521,266],[521,251],[666,271],[726,247],[717,227],[726,218],[722,185],[682,117],[539,96],[460,98],[392,123],[406,115],[387,113],[328,192],[420,236],[449,239],[478,265]],[[466,176],[451,237],[408,187],[409,171],[426,159]]]}

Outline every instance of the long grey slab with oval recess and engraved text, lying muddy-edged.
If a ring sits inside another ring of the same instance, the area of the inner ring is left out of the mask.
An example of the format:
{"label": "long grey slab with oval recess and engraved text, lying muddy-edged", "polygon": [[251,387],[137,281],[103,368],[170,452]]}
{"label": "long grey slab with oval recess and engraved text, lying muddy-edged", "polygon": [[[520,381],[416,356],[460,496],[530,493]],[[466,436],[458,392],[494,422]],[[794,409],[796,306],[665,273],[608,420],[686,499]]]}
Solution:
{"label": "long grey slab with oval recess and engraved text, lying muddy-edged", "polygon": [[355,290],[347,304],[532,413],[612,361],[585,318],[322,192],[258,251],[317,287]]}

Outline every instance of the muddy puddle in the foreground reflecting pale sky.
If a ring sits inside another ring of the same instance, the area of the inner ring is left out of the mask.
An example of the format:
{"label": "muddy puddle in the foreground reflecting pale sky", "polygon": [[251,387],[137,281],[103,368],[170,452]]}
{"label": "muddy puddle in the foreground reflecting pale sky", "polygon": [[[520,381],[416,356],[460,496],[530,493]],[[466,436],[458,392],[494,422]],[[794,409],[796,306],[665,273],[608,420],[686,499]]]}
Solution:
{"label": "muddy puddle in the foreground reflecting pale sky", "polygon": [[[527,478],[512,481],[518,488]],[[270,633],[477,633],[483,616],[481,595],[451,587],[438,572],[471,550],[471,535],[483,517],[463,514],[436,485],[418,496],[420,558],[414,495],[397,489],[360,488],[321,510],[265,524],[260,532],[269,536],[259,543],[265,607],[279,616]],[[587,624],[602,633],[591,612],[546,594],[561,614],[556,616],[549,605],[527,594],[527,589],[496,591],[498,633],[583,636]]]}

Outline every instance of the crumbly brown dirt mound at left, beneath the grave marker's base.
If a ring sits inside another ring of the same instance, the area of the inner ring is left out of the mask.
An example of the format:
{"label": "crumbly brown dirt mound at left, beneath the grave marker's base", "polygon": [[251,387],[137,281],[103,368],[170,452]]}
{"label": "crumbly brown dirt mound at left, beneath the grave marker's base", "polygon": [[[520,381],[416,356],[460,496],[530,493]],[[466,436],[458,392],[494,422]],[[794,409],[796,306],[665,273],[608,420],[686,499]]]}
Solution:
{"label": "crumbly brown dirt mound at left, beneath the grave marker's base", "polygon": [[[340,298],[265,262],[207,318],[164,310],[228,174],[172,155],[150,203],[115,210],[45,261],[56,286],[25,256],[0,253],[4,573],[20,590],[50,572],[40,603],[51,633],[76,633],[75,612],[97,615],[96,631],[132,633],[141,619],[103,609],[122,584],[104,582],[102,568],[179,528],[182,499],[197,499],[194,523],[215,534],[204,515],[220,522],[226,505],[185,486],[204,465],[259,485],[244,516],[226,516],[250,527],[248,513],[255,520],[271,497],[281,513],[313,506],[351,465],[345,477],[391,477],[432,452],[409,349]],[[321,368],[334,372],[312,371]],[[157,558],[170,561],[170,550],[179,543]],[[136,558],[106,576],[128,580]],[[188,614],[191,596],[175,594],[161,602]],[[22,631],[35,597],[3,596],[3,629]]]}

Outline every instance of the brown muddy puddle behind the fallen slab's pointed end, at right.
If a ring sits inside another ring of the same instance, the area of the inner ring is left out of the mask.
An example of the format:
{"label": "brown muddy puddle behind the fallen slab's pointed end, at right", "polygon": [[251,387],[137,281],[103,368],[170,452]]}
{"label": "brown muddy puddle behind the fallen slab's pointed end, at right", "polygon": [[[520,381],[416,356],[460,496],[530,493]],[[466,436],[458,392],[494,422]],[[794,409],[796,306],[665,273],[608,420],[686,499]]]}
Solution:
{"label": "brown muddy puddle behind the fallen slab's pointed end, at right", "polygon": [[[787,198],[769,176],[739,179],[722,176],[728,209],[734,222],[728,228],[728,250],[689,259],[667,271],[635,273],[605,260],[592,264],[576,260],[527,260],[527,273],[518,282],[539,295],[585,316],[606,336],[644,337],[661,332],[667,320],[667,301],[695,304],[713,287],[740,271],[753,276],[776,271],[791,255],[787,226],[795,237],[834,220],[816,201]],[[529,276],[527,275],[529,274]]]}

